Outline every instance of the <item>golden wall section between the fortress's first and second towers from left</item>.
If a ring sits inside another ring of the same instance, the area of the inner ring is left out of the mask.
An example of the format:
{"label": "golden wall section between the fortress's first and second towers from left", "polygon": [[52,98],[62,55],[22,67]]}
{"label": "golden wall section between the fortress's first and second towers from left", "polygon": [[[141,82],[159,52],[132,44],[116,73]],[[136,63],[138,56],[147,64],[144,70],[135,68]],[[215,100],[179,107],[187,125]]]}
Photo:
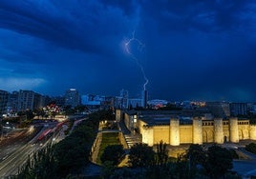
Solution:
{"label": "golden wall section between the fortress's first and second towers from left", "polygon": [[170,127],[169,126],[155,126],[154,127],[154,144],[159,144],[160,140],[163,143],[169,144],[170,142]]}

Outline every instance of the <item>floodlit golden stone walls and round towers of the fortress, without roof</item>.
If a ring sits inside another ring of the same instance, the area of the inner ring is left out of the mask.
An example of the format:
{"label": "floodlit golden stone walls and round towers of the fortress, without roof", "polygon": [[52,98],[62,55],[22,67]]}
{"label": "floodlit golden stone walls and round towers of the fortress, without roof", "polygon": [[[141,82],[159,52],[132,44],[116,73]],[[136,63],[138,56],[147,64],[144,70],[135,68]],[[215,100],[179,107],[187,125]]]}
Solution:
{"label": "floodlit golden stone walls and round towers of the fortress, without roof", "polygon": [[[131,117],[124,115],[125,125],[130,127]],[[128,128],[129,129],[129,128]],[[192,125],[180,125],[178,118],[171,118],[170,125],[149,126],[146,122],[138,119],[139,133],[142,135],[142,143],[149,146],[160,143],[179,146],[180,144],[203,144],[224,142],[237,143],[239,140],[256,140],[256,125],[249,125],[248,120],[230,118],[223,120],[202,120],[193,118]]]}

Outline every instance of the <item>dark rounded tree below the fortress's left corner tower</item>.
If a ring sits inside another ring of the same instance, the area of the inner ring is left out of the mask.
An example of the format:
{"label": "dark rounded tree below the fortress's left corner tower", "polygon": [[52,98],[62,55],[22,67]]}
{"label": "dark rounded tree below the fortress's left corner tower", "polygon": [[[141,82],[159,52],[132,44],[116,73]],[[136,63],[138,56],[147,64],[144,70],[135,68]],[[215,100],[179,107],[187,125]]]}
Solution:
{"label": "dark rounded tree below the fortress's left corner tower", "polygon": [[134,167],[149,167],[154,163],[155,151],[147,144],[136,144],[130,149],[129,164]]}

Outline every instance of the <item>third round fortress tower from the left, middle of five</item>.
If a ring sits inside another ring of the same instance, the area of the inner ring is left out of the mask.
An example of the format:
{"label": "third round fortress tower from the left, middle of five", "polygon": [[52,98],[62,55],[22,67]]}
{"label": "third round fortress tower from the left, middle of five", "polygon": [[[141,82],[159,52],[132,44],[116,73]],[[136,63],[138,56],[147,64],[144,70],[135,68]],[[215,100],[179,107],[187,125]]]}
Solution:
{"label": "third round fortress tower from the left, middle of five", "polygon": [[203,144],[203,122],[200,117],[193,117],[193,144]]}

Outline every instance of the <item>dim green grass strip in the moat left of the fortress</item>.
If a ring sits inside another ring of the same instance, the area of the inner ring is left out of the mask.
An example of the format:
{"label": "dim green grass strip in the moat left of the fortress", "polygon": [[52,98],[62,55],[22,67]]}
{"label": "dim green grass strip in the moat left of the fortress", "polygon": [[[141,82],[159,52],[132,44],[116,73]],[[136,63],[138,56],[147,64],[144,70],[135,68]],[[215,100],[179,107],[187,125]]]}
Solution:
{"label": "dim green grass strip in the moat left of the fortress", "polygon": [[118,133],[117,132],[102,133],[102,141],[101,141],[97,159],[96,159],[97,164],[101,165],[100,156],[104,152],[104,149],[107,146],[111,146],[111,145],[121,145],[118,138]]}

